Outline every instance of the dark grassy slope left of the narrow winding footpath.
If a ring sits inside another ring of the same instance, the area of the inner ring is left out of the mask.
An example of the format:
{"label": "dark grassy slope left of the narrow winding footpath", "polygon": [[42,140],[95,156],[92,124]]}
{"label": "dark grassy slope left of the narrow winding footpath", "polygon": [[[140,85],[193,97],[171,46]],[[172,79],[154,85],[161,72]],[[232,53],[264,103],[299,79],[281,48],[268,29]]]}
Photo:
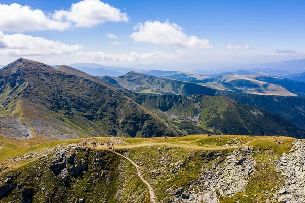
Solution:
{"label": "dark grassy slope left of the narrow winding footpath", "polygon": [[[96,161],[95,157],[99,157],[99,160]],[[62,180],[49,170],[51,157],[47,159],[48,161],[37,160],[28,163],[10,172],[18,173],[14,183],[19,184],[23,198],[27,195],[34,203],[68,200],[77,202],[83,197],[86,201],[96,202],[149,202],[148,192],[134,173],[134,166],[111,152],[78,151],[75,162],[86,164],[87,169],[83,175],[70,177],[69,186],[64,186]],[[72,165],[68,164],[67,167]],[[16,196],[20,198],[21,194],[17,191],[16,188],[8,196],[0,199],[0,202],[14,201]]]}

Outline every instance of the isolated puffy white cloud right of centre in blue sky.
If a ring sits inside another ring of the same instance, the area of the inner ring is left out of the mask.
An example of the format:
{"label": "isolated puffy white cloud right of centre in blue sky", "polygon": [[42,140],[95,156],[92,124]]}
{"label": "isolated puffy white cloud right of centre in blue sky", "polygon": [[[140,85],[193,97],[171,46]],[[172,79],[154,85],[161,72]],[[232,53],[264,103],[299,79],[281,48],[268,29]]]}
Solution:
{"label": "isolated puffy white cloud right of centre in blue sky", "polygon": [[134,27],[131,38],[136,42],[150,42],[164,46],[177,46],[189,49],[212,48],[209,40],[199,39],[195,35],[186,35],[180,26],[169,21],[146,21]]}

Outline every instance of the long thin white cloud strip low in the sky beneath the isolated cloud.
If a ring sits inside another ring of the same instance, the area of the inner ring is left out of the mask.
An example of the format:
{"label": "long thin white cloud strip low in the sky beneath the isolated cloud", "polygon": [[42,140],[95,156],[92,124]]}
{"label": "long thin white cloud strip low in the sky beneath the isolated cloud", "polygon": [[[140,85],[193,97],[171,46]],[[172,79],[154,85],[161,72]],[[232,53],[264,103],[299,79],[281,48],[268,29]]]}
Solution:
{"label": "long thin white cloud strip low in the sky beneath the isolated cloud", "polygon": [[108,54],[104,52],[78,52],[79,55],[89,57],[96,61],[125,61],[125,62],[135,62],[140,60],[156,60],[156,59],[164,59],[171,60],[177,59],[186,54],[184,51],[177,51],[175,53],[166,53],[164,51],[154,51],[151,53],[139,54],[136,52],[132,52],[131,54]]}

